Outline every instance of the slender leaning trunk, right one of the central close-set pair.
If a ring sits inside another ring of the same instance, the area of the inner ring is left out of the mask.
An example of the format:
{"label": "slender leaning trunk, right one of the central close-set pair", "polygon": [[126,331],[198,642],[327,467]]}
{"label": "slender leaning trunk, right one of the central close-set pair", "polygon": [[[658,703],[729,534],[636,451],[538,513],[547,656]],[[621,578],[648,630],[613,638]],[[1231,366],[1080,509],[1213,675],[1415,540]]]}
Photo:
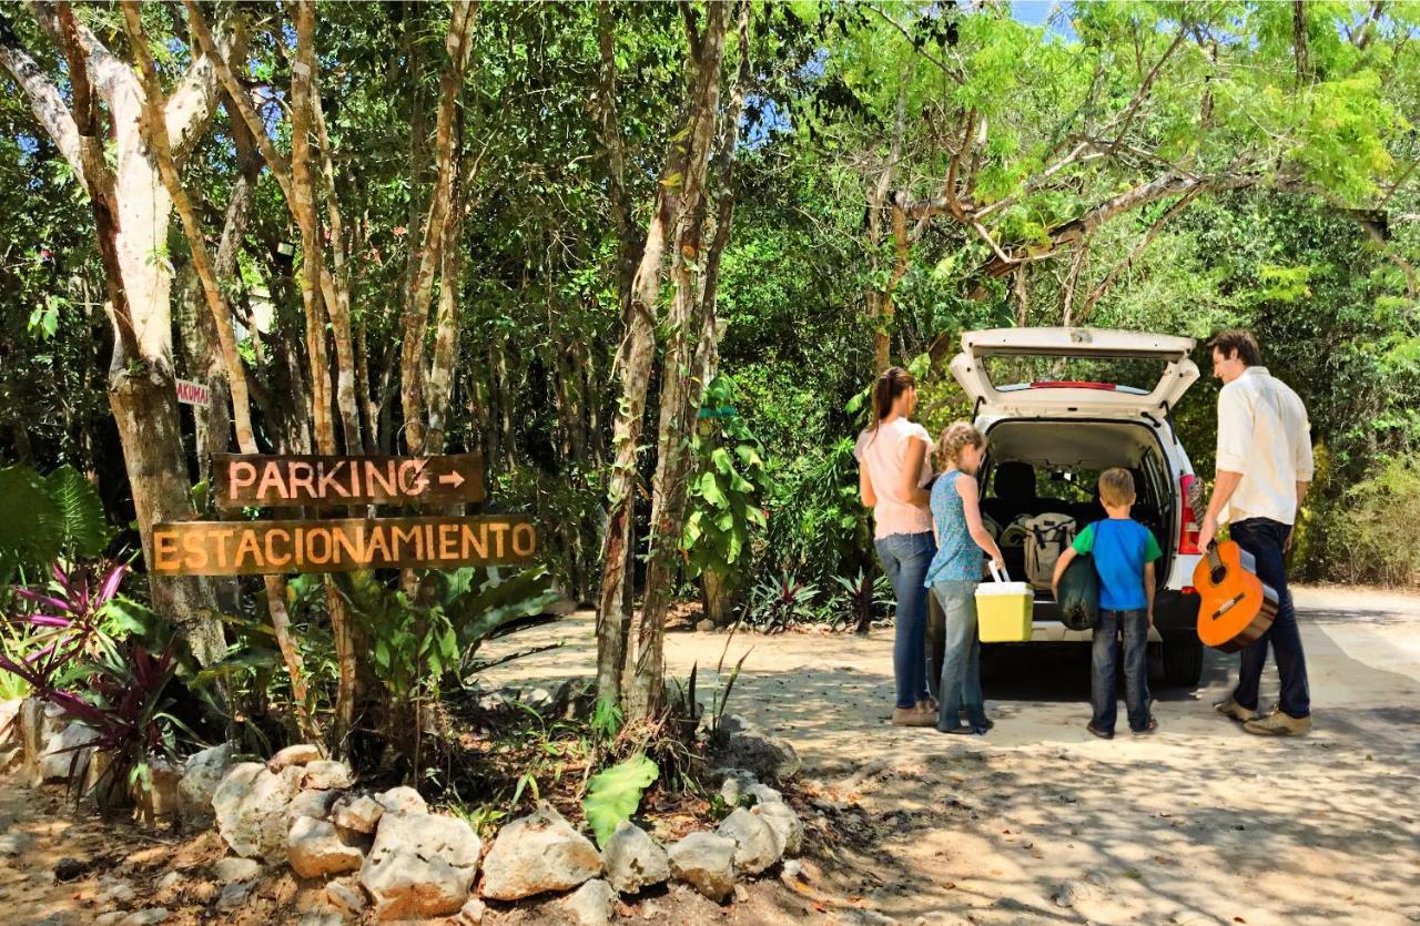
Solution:
{"label": "slender leaning trunk, right one of the central close-set pair", "polygon": [[[738,4],[741,34],[747,36],[748,11]],[[665,683],[665,622],[670,605],[673,581],[684,525],[686,480],[690,474],[690,442],[696,410],[704,383],[697,376],[707,307],[706,270],[710,268],[704,251],[707,213],[706,178],[714,149],[717,107],[720,101],[720,65],[724,58],[724,37],[728,4],[713,4],[706,10],[704,33],[694,45],[696,94],[690,114],[689,152],[684,170],[684,192],[676,223],[676,251],[672,257],[674,298],[666,332],[666,356],[662,362],[660,423],[656,439],[656,476],[652,486],[650,544],[646,565],[646,594],[642,601],[640,631],[636,645],[636,670],[632,676],[628,713],[645,719],[660,707]],[[748,54],[747,44],[740,50]],[[733,108],[733,107],[731,107]],[[721,139],[733,158],[738,112]],[[724,190],[728,196],[728,190]],[[727,230],[726,230],[727,236]],[[727,237],[720,239],[721,243]],[[716,257],[716,264],[719,258]]]}

